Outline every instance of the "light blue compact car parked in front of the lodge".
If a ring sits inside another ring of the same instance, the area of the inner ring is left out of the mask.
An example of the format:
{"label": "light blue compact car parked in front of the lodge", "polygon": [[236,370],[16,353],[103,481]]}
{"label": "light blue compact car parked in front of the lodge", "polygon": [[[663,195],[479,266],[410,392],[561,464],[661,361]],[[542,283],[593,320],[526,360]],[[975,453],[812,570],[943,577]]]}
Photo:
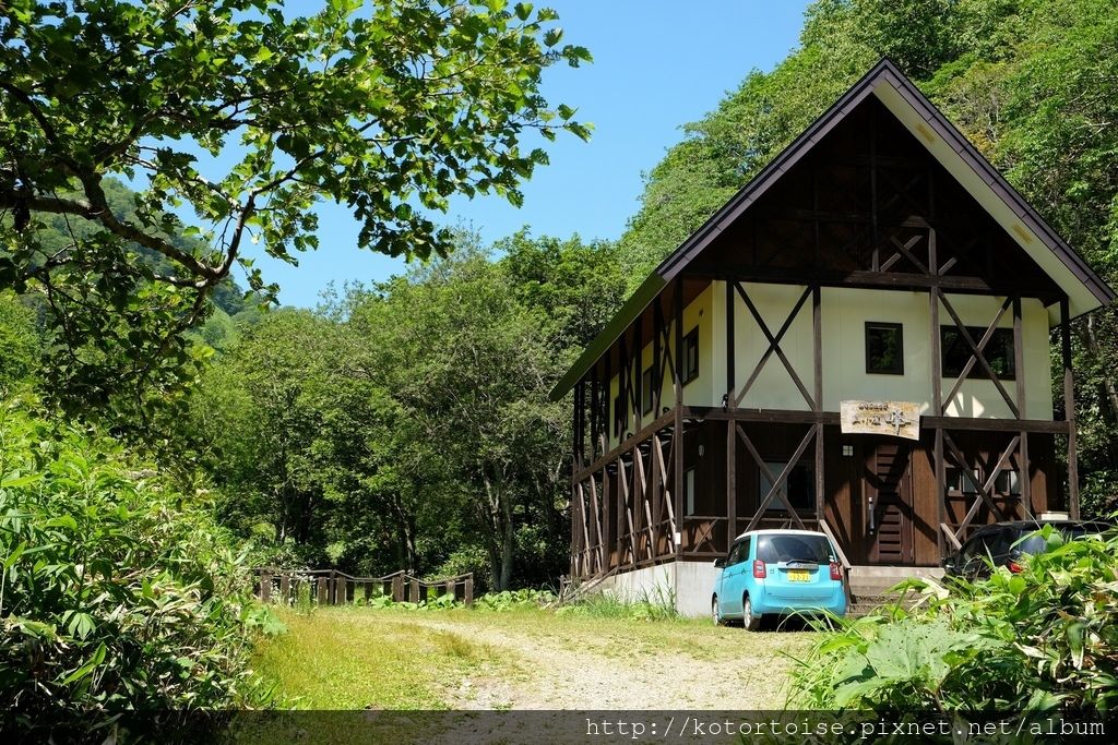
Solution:
{"label": "light blue compact car parked in front of the lodge", "polygon": [[741,621],[750,631],[768,614],[846,612],[842,565],[830,538],[812,531],[752,531],[714,566],[714,623]]}

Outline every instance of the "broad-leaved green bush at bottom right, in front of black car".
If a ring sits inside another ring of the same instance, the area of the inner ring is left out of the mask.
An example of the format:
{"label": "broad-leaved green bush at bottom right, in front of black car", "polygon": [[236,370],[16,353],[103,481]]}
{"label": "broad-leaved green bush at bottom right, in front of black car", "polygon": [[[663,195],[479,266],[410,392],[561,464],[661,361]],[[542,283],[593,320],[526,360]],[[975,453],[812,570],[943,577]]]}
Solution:
{"label": "broad-leaved green bush at bottom right, in front of black car", "polygon": [[910,581],[911,611],[841,620],[793,676],[804,708],[1108,711],[1118,705],[1118,533],[985,581]]}

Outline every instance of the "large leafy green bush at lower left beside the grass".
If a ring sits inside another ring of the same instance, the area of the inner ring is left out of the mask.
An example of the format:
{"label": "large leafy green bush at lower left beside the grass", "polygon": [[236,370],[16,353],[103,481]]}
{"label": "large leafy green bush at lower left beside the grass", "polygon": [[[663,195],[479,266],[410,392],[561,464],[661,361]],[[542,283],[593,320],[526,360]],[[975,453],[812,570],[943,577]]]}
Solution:
{"label": "large leafy green bush at lower left beside the grass", "polygon": [[265,703],[247,662],[267,611],[196,500],[110,438],[0,405],[0,709],[89,724]]}

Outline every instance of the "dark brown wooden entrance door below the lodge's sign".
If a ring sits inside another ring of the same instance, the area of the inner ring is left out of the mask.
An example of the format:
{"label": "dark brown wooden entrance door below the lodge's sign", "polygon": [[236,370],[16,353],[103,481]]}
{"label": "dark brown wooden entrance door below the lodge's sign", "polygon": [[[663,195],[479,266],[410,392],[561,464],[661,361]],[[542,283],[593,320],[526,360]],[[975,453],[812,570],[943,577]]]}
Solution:
{"label": "dark brown wooden entrance door below the lodge's sign", "polygon": [[879,440],[866,462],[866,537],[870,562],[911,564],[912,446],[902,440]]}

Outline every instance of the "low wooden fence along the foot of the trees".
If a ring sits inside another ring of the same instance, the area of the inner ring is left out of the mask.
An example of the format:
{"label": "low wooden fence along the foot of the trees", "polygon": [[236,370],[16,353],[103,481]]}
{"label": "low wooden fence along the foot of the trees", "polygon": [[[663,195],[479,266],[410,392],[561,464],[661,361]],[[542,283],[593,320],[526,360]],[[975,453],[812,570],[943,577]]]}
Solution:
{"label": "low wooden fence along the foot of the trees", "polygon": [[453,594],[456,601],[474,604],[474,575],[459,574],[434,582],[411,576],[402,570],[385,576],[352,576],[337,570],[253,570],[253,588],[260,602],[284,605],[305,602],[344,605],[388,595],[394,602],[418,603]]}

